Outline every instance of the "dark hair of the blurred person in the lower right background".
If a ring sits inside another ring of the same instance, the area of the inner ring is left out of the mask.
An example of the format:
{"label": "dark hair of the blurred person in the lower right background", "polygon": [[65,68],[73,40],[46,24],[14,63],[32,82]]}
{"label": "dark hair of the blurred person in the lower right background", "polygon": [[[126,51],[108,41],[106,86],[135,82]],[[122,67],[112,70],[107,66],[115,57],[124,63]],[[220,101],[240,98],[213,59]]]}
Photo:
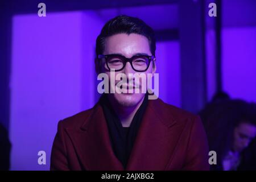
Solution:
{"label": "dark hair of the blurred person in the lower right background", "polygon": [[256,104],[243,100],[212,102],[199,114],[207,133],[209,150],[216,151],[218,155],[218,165],[211,168],[220,169],[222,159],[232,147],[234,128],[241,123],[256,126]]}

